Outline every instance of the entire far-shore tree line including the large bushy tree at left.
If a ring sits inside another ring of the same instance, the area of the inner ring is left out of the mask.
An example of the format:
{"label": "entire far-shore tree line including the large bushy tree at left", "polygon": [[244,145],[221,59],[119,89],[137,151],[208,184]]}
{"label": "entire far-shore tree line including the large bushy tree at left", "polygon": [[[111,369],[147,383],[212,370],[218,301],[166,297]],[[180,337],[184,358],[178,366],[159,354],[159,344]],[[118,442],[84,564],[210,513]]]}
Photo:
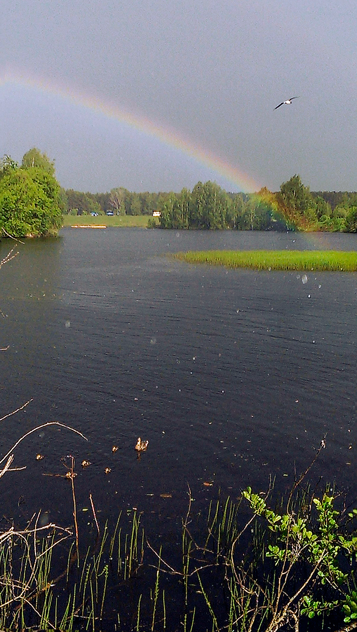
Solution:
{"label": "entire far-shore tree line including the large bushy tree at left", "polygon": [[[190,191],[137,193],[123,186],[106,193],[64,190],[54,161],[33,147],[21,165],[9,156],[0,162],[0,234],[56,233],[63,214],[147,215],[159,212],[160,228],[308,230],[357,232],[357,193],[310,191],[299,175],[279,191],[229,193],[214,182]],[[148,226],[157,226],[149,219]]]}

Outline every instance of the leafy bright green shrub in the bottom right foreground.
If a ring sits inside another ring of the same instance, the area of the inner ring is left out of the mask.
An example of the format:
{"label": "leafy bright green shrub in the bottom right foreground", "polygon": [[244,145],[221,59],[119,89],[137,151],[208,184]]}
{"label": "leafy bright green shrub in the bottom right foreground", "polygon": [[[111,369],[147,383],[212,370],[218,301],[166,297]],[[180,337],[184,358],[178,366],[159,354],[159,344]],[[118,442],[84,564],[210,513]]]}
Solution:
{"label": "leafy bright green shrub in the bottom right foreground", "polygon": [[[356,593],[351,588],[353,573],[346,573],[346,568],[351,569],[357,560],[357,538],[350,535],[341,512],[334,508],[336,498],[325,492],[321,499],[313,497],[307,504],[292,509],[291,494],[286,511],[280,514],[268,507],[261,494],[253,494],[250,487],[243,491],[243,497],[254,516],[266,521],[267,533],[271,534],[265,557],[272,559],[277,568],[275,590],[282,614],[296,617],[300,611],[312,619],[342,605],[344,621],[357,618]],[[357,518],[357,510],[349,517]],[[299,576],[301,565],[305,568],[303,578]],[[294,594],[289,596],[288,576],[294,579]],[[281,586],[285,594],[279,594]],[[324,591],[324,586],[329,590]],[[330,595],[335,599],[330,599]]]}

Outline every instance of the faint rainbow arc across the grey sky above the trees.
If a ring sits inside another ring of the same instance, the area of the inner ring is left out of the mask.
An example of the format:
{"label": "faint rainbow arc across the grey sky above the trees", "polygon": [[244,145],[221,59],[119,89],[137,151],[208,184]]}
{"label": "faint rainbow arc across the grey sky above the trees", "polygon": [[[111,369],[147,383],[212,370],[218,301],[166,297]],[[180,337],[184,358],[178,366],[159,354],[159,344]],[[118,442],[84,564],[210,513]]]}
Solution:
{"label": "faint rainbow arc across the grey sky above the trees", "polygon": [[197,161],[198,164],[209,167],[209,169],[212,169],[212,171],[215,171],[227,181],[231,182],[238,190],[250,193],[258,191],[261,188],[261,185],[258,185],[257,182],[243,173],[243,171],[240,171],[237,167],[234,167],[229,162],[215,155],[213,152],[210,152],[210,150],[203,149],[203,147],[200,147],[197,143],[193,143],[184,138],[177,131],[160,125],[144,116],[132,114],[122,107],[118,107],[113,102],[101,99],[99,95],[87,95],[68,85],[51,83],[44,78],[21,75],[21,73],[12,70],[6,71],[3,76],[0,76],[0,88],[6,87],[6,85],[20,85],[33,88],[44,94],[55,95],[68,102],[73,102],[76,105],[90,109],[91,111],[104,114],[104,116],[109,119],[126,123],[126,125],[136,130],[157,138],[160,142],[164,143],[164,145],[174,147],[174,149],[190,156]]}

